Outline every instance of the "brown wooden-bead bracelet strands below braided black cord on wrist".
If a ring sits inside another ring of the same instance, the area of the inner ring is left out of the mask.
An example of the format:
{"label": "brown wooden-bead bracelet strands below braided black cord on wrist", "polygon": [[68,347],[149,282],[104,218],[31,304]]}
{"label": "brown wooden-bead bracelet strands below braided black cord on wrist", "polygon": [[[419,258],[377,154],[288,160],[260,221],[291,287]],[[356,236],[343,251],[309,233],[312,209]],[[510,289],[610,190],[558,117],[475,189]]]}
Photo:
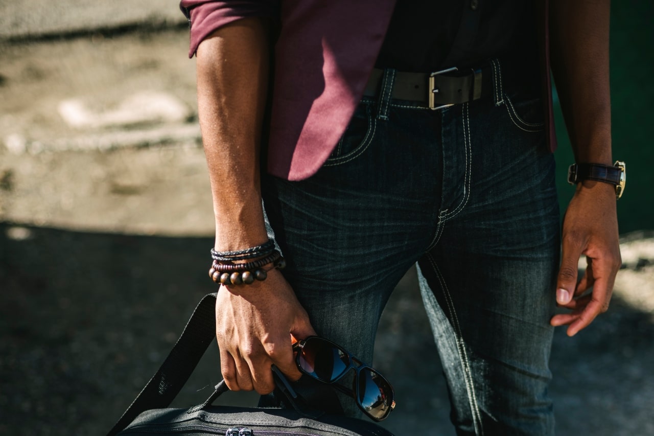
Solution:
{"label": "brown wooden-bead bracelet strands below braided black cord on wrist", "polygon": [[[272,268],[263,268],[267,264],[273,264]],[[220,283],[222,285],[251,285],[254,283],[254,280],[263,282],[266,280],[268,274],[267,271],[273,268],[283,269],[286,266],[286,261],[279,253],[275,250],[270,255],[267,255],[263,259],[258,259],[256,261],[248,263],[229,263],[221,264],[218,261],[214,260],[209,268],[209,277],[215,283]]]}

